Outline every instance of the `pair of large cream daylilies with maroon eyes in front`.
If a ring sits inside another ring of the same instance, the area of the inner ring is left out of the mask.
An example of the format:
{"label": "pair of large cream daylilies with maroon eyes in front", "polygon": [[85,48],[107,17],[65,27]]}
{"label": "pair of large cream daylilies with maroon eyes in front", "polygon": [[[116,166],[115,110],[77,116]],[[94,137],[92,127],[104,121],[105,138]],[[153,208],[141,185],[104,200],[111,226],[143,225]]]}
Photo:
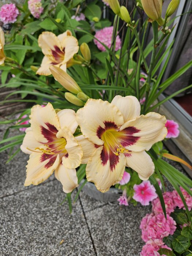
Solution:
{"label": "pair of large cream daylilies with maroon eyes in front", "polygon": [[147,180],[154,163],[146,151],[167,135],[166,118],[154,112],[140,115],[133,96],[117,95],[111,103],[88,99],[76,113],[54,110],[50,103],[35,105],[29,122],[21,146],[30,154],[25,185],[37,185],[54,172],[65,193],[78,187],[81,163],[87,164],[87,181],[101,192],[121,181],[125,166]]}

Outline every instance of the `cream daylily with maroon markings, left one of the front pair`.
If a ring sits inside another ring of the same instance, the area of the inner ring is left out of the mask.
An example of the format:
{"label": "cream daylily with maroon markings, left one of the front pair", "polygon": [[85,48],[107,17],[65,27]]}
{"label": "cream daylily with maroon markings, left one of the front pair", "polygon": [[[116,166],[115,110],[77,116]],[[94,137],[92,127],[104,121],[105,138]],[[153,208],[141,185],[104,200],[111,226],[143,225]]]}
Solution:
{"label": "cream daylily with maroon markings, left one of the front pair", "polygon": [[75,111],[64,109],[56,113],[50,103],[43,108],[35,105],[30,123],[21,145],[21,150],[30,154],[25,186],[38,185],[55,170],[63,191],[71,192],[78,187],[75,168],[83,156],[82,147],[73,136],[78,127]]}

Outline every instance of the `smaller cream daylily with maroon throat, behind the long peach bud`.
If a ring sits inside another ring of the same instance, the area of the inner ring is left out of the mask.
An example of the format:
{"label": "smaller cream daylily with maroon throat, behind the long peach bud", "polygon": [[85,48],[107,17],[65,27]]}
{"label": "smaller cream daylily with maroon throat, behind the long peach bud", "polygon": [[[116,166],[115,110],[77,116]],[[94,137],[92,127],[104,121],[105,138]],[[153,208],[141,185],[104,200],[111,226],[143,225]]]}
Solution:
{"label": "smaller cream daylily with maroon throat, behind the long peach bud", "polygon": [[39,47],[45,57],[42,59],[41,67],[37,70],[38,75],[51,75],[49,67],[56,65],[66,71],[67,63],[71,61],[74,54],[78,52],[78,41],[72,36],[70,30],[56,36],[52,32],[45,31],[38,38]]}

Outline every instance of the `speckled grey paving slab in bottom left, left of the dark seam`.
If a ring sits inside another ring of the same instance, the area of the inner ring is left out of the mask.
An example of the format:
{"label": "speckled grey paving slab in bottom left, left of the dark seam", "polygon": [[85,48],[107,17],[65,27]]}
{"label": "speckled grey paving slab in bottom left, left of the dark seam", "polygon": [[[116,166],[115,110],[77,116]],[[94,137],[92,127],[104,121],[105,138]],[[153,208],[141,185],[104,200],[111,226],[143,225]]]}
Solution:
{"label": "speckled grey paving slab in bottom left, left of the dark seam", "polygon": [[[70,215],[54,180],[0,199],[1,256],[94,256],[79,201]],[[64,239],[62,245],[60,241]]]}

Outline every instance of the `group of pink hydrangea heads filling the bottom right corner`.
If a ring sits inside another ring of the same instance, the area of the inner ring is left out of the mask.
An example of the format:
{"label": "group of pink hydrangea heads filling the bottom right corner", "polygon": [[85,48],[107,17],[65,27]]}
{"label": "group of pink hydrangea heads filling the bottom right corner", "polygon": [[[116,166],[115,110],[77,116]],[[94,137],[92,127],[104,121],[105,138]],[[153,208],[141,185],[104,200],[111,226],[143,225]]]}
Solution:
{"label": "group of pink hydrangea heads filling the bottom right corner", "polygon": [[[182,187],[181,192],[185,198],[189,210],[192,208],[192,196],[190,196]],[[151,214],[147,214],[141,221],[140,229],[142,230],[142,239],[146,242],[143,246],[141,256],[159,256],[157,252],[160,248],[168,248],[162,242],[163,237],[173,234],[176,230],[176,222],[170,217],[170,213],[174,211],[176,207],[184,209],[184,204],[177,191],[163,193],[163,199],[165,201],[165,208],[167,213],[167,219],[163,214],[161,203],[159,198],[153,200]],[[187,224],[186,224],[187,225]],[[185,226],[185,224],[183,225]]]}

